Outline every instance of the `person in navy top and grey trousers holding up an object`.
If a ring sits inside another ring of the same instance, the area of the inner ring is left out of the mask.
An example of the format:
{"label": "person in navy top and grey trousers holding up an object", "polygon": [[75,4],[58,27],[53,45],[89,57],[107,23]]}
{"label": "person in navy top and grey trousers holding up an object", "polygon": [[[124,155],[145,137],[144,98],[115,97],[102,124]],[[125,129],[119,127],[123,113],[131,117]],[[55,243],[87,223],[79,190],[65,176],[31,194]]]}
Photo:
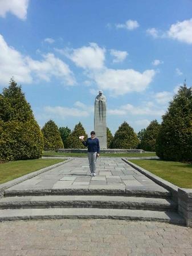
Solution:
{"label": "person in navy top and grey trousers holding up an object", "polygon": [[92,131],[90,138],[88,138],[86,141],[81,139],[81,141],[85,147],[88,147],[89,169],[91,171],[91,176],[95,176],[96,160],[97,157],[100,156],[99,140],[95,137],[95,132]]}

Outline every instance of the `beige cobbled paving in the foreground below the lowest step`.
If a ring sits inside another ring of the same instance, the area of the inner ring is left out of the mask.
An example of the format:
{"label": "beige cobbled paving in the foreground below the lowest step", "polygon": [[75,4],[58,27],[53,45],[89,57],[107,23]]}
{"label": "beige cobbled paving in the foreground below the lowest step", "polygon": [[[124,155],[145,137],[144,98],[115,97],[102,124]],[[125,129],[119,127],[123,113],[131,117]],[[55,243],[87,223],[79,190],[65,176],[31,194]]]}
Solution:
{"label": "beige cobbled paving in the foreground below the lowest step", "polygon": [[191,256],[192,229],[117,220],[1,222],[0,255]]}

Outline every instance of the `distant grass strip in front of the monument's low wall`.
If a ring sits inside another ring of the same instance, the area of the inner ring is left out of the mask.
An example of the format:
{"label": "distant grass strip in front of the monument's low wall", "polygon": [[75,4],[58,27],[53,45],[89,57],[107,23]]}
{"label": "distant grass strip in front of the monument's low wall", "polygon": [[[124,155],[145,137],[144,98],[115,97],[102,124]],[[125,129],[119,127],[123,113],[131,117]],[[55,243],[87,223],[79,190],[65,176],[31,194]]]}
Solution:
{"label": "distant grass strip in front of the monument's low wall", "polygon": [[[43,156],[86,156],[87,153],[58,153],[55,151],[44,151]],[[155,152],[152,153],[101,153],[100,156],[107,157],[141,157],[141,156],[156,156]]]}

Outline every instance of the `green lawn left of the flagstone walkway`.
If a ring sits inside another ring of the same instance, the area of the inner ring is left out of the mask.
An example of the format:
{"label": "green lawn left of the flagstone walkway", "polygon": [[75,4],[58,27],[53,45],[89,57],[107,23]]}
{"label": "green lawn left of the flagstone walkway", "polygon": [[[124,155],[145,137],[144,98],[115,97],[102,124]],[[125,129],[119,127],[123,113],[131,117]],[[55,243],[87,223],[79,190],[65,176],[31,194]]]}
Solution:
{"label": "green lawn left of the flagstone walkway", "polygon": [[0,164],[0,184],[62,161],[63,159],[34,159],[5,162]]}

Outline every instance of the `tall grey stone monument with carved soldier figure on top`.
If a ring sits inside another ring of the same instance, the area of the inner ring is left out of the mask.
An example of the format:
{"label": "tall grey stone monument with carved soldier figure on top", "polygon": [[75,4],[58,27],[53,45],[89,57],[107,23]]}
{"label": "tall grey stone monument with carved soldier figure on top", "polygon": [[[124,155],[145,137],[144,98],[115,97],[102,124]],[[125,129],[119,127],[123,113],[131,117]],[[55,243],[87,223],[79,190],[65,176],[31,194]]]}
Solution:
{"label": "tall grey stone monument with carved soldier figure on top", "polygon": [[94,130],[100,148],[107,148],[106,97],[102,91],[99,91],[99,95],[95,98]]}

